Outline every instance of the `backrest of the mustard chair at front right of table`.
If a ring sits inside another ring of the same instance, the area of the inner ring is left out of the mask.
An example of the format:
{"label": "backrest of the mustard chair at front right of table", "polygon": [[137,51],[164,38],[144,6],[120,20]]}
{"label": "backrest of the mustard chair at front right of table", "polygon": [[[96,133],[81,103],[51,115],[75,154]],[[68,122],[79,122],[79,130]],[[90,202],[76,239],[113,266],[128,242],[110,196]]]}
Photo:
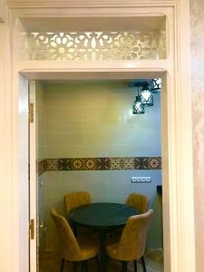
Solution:
{"label": "backrest of the mustard chair at front right of table", "polygon": [[153,209],[128,219],[117,247],[117,258],[131,261],[144,255]]}

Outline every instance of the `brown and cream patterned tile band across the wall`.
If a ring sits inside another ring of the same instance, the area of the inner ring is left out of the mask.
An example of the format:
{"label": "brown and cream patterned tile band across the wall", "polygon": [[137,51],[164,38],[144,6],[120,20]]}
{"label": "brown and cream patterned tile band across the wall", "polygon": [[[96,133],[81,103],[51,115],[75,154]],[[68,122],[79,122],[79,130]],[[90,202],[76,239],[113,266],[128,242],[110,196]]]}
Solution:
{"label": "brown and cream patterned tile band across the wall", "polygon": [[38,173],[67,170],[160,170],[160,157],[63,158],[38,162]]}

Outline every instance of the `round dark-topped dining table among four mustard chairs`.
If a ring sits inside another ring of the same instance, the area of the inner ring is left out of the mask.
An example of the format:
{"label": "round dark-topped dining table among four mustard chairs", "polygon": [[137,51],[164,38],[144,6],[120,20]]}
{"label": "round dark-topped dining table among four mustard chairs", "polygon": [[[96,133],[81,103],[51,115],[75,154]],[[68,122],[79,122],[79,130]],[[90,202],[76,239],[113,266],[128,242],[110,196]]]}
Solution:
{"label": "round dark-topped dining table among four mustard chairs", "polygon": [[99,231],[101,246],[101,271],[105,270],[105,236],[116,228],[123,227],[127,219],[139,212],[119,203],[91,203],[79,206],[70,211],[69,220],[74,226],[83,226]]}

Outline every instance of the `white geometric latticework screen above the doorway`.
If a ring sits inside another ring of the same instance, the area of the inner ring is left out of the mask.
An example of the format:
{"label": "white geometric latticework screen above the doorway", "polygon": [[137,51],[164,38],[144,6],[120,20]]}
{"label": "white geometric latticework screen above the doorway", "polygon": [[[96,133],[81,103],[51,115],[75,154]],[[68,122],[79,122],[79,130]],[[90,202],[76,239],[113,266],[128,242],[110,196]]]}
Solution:
{"label": "white geometric latticework screen above the doorway", "polygon": [[31,33],[31,60],[142,60],[160,59],[165,51],[160,32]]}

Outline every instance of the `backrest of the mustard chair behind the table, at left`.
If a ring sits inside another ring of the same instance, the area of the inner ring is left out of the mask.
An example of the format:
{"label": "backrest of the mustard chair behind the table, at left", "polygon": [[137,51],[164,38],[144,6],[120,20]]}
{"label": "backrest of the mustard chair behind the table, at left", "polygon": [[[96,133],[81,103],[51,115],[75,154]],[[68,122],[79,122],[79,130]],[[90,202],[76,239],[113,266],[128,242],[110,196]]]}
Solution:
{"label": "backrest of the mustard chair behind the table, at left", "polygon": [[88,191],[75,191],[72,193],[68,193],[64,196],[64,205],[66,215],[68,216],[70,210],[92,202],[91,195]]}

